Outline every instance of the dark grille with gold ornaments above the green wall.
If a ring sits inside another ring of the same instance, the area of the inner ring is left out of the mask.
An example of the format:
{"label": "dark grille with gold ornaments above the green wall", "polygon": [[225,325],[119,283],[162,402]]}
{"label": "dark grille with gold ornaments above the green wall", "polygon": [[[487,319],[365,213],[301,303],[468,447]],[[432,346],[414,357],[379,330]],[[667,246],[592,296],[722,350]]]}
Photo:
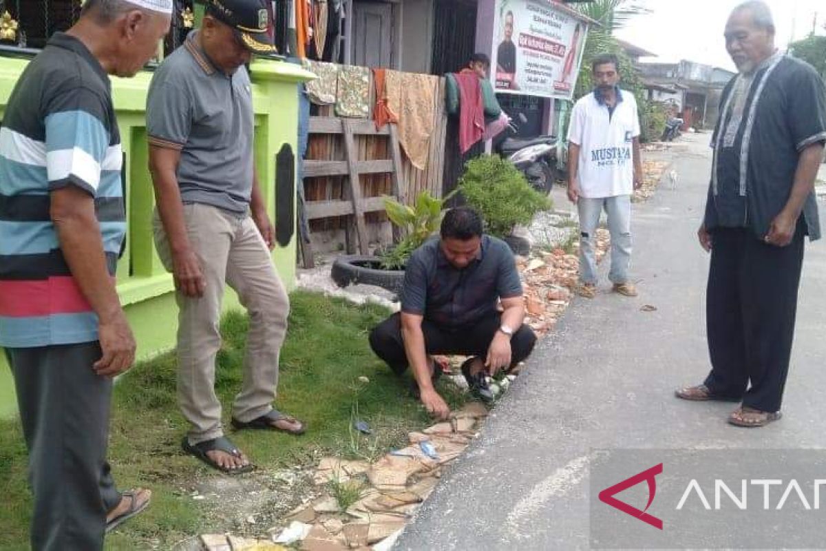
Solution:
{"label": "dark grille with gold ornaments above the green wall", "polygon": [[[0,0],[0,44],[39,50],[57,31],[80,17],[83,0]],[[192,29],[192,0],[174,0],[172,28],[164,39],[164,55],[183,43]]]}

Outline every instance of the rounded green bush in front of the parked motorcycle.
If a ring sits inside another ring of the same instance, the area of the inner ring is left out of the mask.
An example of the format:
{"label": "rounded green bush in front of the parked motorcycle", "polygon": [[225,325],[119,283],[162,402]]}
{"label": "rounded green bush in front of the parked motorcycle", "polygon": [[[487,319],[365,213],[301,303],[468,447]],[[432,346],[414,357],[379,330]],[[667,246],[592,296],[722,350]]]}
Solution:
{"label": "rounded green bush in front of the parked motorcycle", "polygon": [[529,224],[537,212],[553,206],[513,164],[496,155],[468,161],[458,189],[482,215],[487,232],[496,237],[510,235],[515,225]]}

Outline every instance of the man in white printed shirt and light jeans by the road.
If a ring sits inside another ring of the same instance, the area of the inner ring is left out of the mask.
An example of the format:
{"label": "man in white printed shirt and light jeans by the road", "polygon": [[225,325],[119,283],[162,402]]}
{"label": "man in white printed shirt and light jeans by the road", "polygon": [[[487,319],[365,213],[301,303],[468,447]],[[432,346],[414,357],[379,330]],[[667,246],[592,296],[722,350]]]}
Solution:
{"label": "man in white printed shirt and light jeans by the road", "polygon": [[634,95],[620,90],[619,60],[606,54],[591,65],[596,88],[573,107],[568,129],[568,199],[577,204],[582,297],[596,296],[594,235],[602,209],[611,234],[613,290],[636,297],[629,281],[631,264],[631,194],[643,182],[639,156],[639,117]]}

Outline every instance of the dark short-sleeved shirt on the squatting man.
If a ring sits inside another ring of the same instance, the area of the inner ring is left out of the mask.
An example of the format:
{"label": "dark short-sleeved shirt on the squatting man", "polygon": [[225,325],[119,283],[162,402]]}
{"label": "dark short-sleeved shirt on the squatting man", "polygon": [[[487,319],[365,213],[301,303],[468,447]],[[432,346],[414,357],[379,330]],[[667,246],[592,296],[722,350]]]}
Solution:
{"label": "dark short-sleeved shirt on the squatting man", "polygon": [[401,311],[459,327],[495,314],[497,299],[521,295],[514,255],[505,241],[482,235],[477,259],[458,269],[445,258],[435,237],[415,249],[407,262]]}

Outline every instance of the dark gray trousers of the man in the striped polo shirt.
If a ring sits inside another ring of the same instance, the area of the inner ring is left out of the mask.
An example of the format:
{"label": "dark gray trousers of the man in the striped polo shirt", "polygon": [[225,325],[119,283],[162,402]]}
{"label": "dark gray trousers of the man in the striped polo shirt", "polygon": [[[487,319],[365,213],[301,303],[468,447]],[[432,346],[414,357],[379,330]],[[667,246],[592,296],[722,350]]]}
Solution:
{"label": "dark gray trousers of the man in the striped polo shirt", "polygon": [[112,379],[98,377],[97,342],[7,349],[34,494],[31,548],[103,548],[121,501],[106,461]]}

